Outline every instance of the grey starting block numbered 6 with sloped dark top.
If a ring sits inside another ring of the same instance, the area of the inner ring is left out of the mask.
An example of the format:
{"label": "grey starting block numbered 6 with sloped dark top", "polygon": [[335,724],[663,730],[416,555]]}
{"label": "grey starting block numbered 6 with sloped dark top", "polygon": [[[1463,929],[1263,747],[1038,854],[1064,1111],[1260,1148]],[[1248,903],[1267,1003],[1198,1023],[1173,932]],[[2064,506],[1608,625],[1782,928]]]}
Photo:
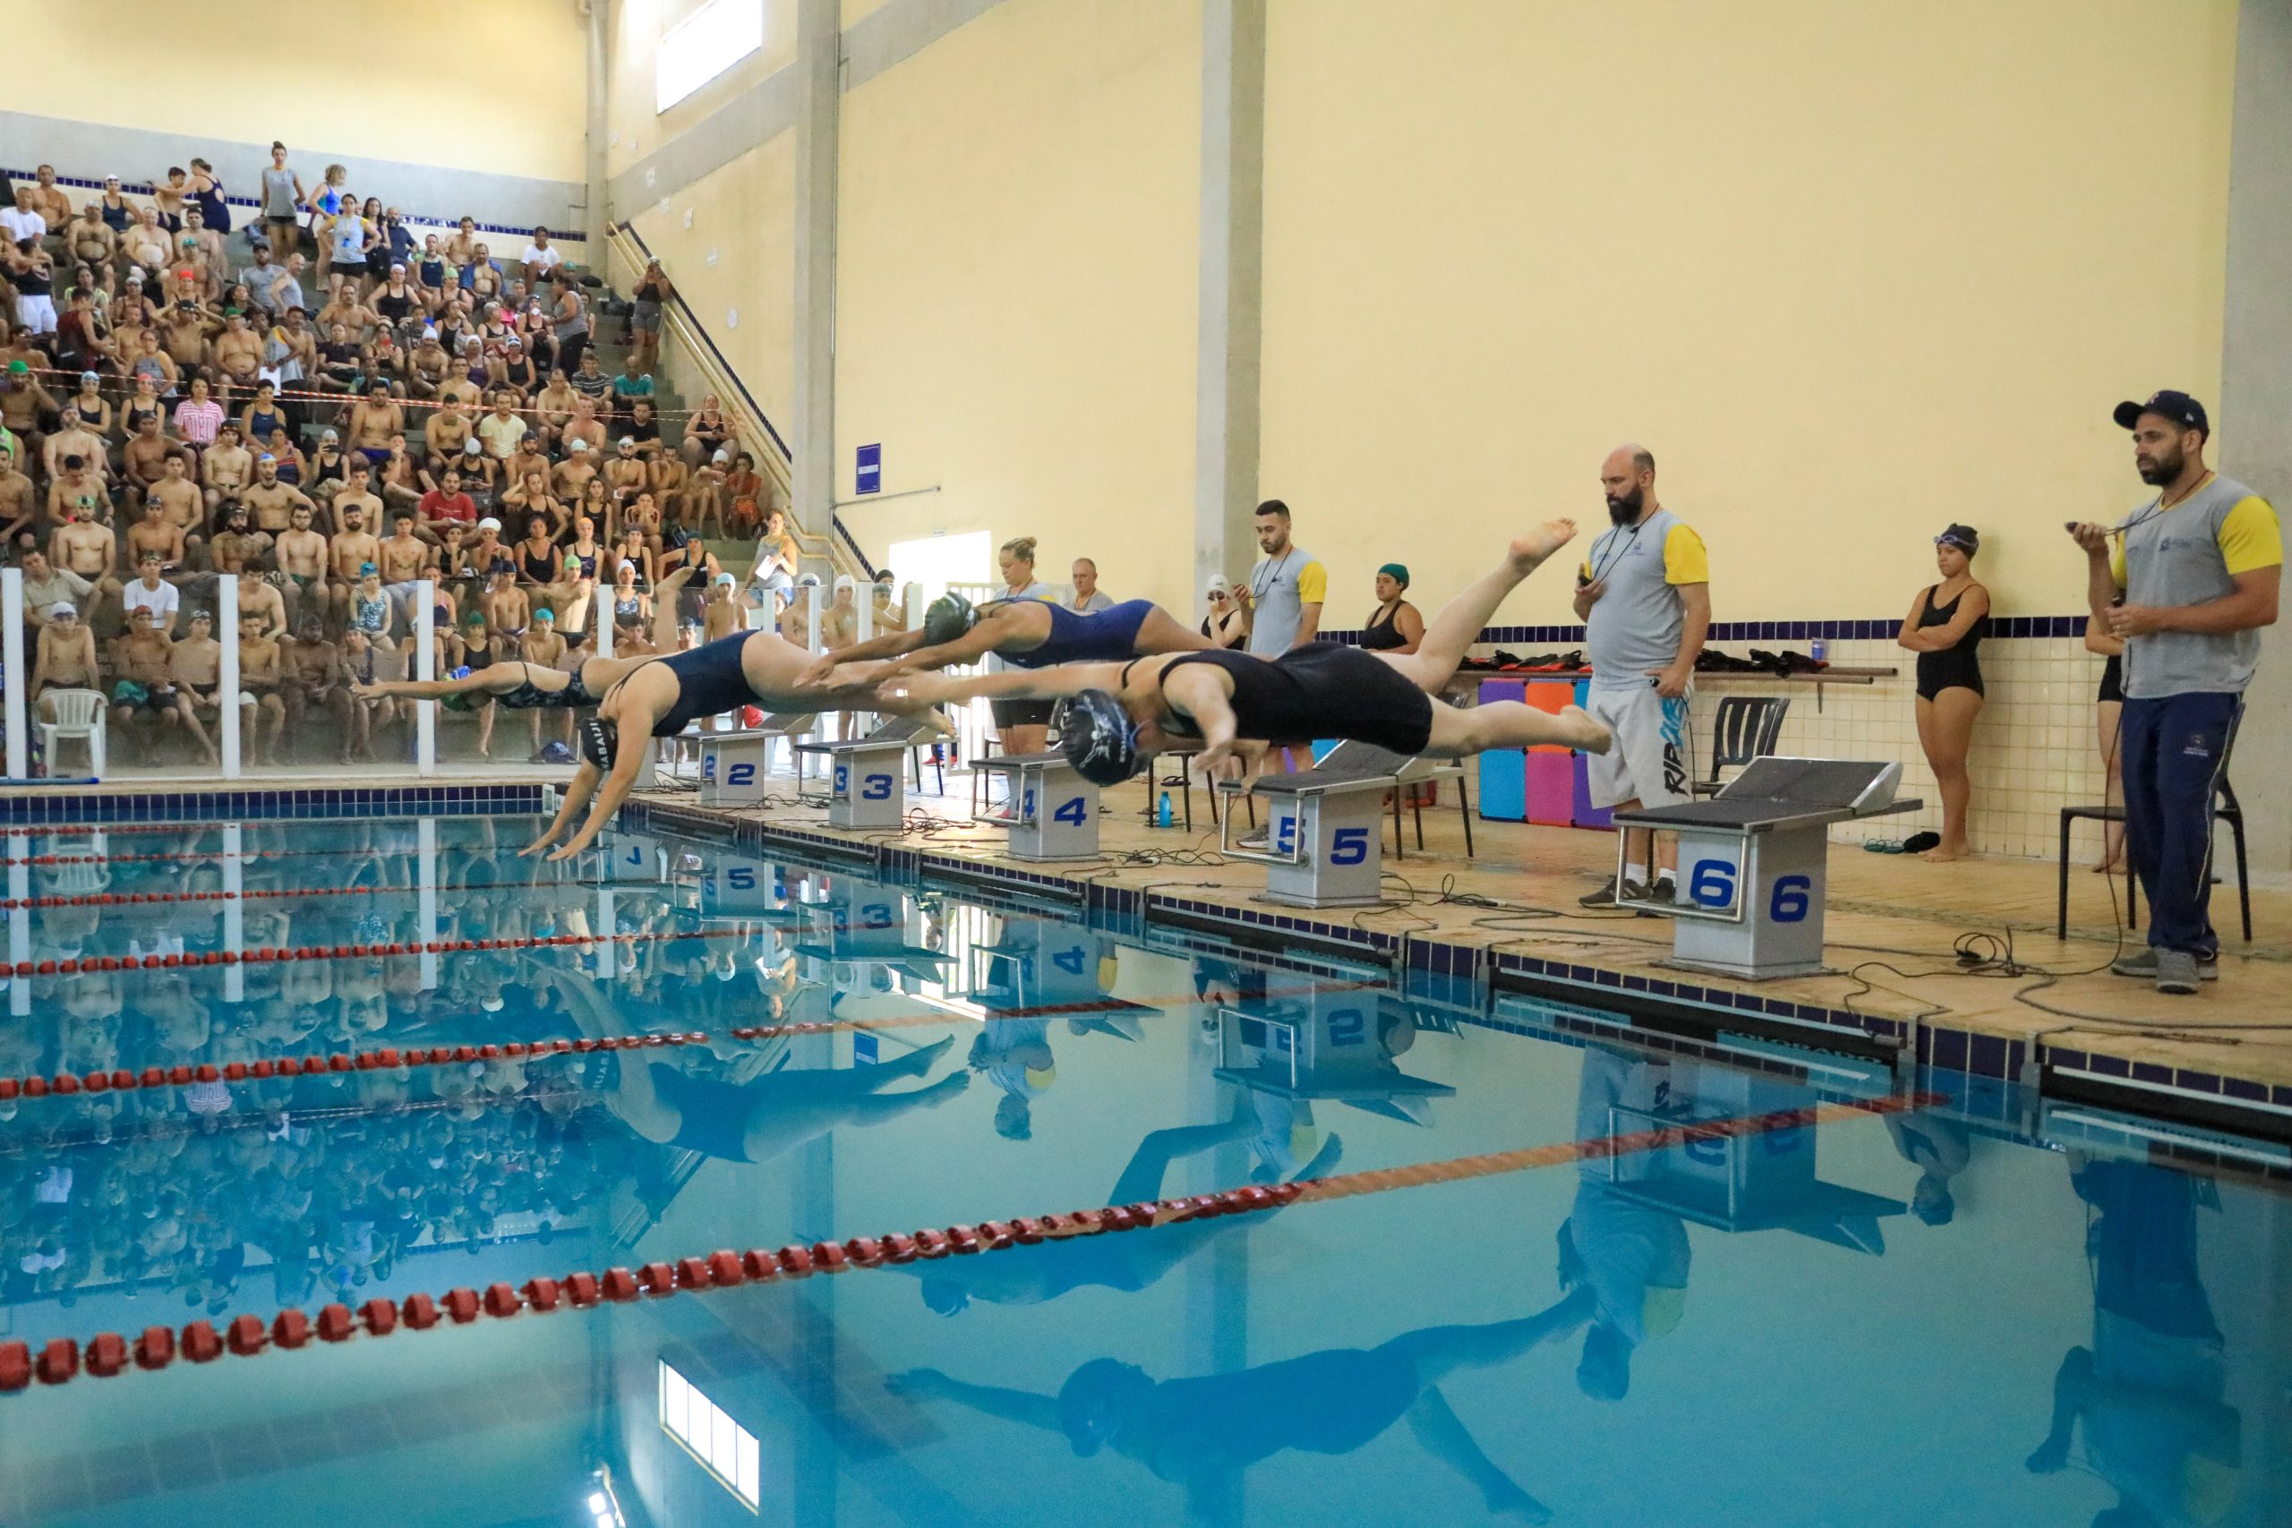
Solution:
{"label": "grey starting block numbered 6 with sloped dark top", "polygon": [[[1749,980],[1822,971],[1829,825],[1916,811],[1895,800],[1902,765],[1852,758],[1753,758],[1719,795],[1618,811],[1616,827],[1680,838],[1675,903],[1616,898],[1671,923],[1664,964]],[[1623,884],[1625,834],[1616,834]]]}

